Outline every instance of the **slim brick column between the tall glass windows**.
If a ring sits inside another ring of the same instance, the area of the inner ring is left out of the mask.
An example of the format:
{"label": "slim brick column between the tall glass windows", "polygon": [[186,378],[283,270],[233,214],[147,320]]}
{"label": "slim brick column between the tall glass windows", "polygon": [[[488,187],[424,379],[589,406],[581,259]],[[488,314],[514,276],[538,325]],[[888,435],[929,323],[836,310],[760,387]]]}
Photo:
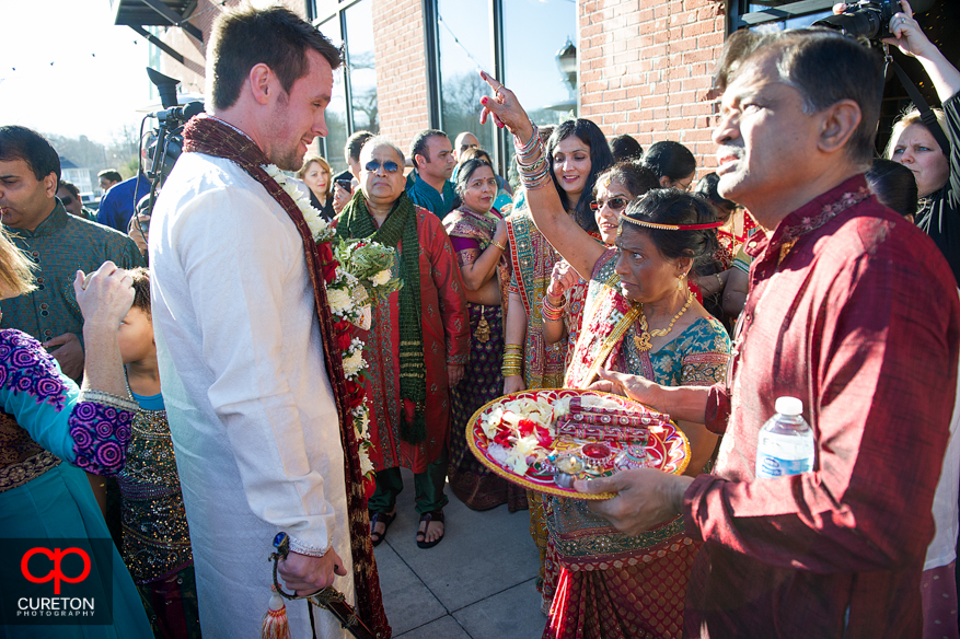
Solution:
{"label": "slim brick column between the tall glass windows", "polygon": [[420,0],[374,0],[373,43],[380,132],[406,150],[430,124]]}

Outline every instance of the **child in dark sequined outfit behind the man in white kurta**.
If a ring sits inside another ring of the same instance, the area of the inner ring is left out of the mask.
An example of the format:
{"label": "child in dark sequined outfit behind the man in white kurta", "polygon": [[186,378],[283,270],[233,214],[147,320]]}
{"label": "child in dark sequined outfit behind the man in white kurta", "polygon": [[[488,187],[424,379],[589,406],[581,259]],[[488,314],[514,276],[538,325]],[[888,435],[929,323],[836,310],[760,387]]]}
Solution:
{"label": "child in dark sequined outfit behind the man in white kurta", "polygon": [[170,426],[160,393],[150,314],[150,274],[134,277],[134,305],[119,327],[127,383],[140,411],[134,418],[123,495],[124,561],[158,639],[200,636],[194,558]]}

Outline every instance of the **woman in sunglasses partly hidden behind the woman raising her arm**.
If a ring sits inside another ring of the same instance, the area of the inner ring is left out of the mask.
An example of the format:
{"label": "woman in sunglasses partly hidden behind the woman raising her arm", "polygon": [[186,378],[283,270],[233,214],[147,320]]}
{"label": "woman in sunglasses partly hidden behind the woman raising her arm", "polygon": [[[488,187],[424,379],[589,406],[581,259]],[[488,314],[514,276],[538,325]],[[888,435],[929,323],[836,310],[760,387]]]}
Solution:
{"label": "woman in sunglasses partly hidden behind the woman raising her arm", "polygon": [[[616,242],[620,216],[626,206],[659,186],[657,175],[639,161],[618,162],[597,178],[590,208],[603,244],[613,246]],[[567,337],[567,365],[570,364],[580,333],[583,300],[568,300],[565,294],[580,281],[580,276],[570,267],[570,263],[562,259],[554,266],[544,298],[547,312],[542,313],[543,339],[547,344],[555,344]],[[563,314],[557,313],[557,309],[563,309]]]}

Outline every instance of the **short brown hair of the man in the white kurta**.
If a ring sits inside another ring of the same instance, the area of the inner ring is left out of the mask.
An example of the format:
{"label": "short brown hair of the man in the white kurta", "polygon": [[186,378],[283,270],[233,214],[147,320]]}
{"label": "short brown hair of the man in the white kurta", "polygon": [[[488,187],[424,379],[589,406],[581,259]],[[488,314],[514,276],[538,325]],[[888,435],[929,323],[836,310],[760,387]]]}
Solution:
{"label": "short brown hair of the man in the white kurta", "polygon": [[313,49],[340,66],[340,51],[310,23],[285,7],[224,11],[216,22],[207,65],[207,95],[216,109],[230,108],[256,65],[266,65],[277,74],[284,91],[306,75],[306,50]]}

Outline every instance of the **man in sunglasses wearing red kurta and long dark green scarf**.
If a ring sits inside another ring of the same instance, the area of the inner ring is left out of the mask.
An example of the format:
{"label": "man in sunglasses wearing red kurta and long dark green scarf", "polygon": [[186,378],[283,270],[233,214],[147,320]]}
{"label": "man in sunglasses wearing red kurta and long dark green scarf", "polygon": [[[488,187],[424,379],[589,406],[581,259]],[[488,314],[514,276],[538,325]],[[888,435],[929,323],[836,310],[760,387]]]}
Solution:
{"label": "man in sunglasses wearing red kurta and long dark green scarf", "polygon": [[437,216],[407,197],[403,163],[403,152],[385,138],[367,141],[360,188],[337,218],[337,235],[396,248],[393,275],[403,281],[400,291],[374,300],[373,324],[361,335],[377,470],[370,536],[380,544],[396,518],[403,466],[414,473],[417,546],[431,548],[443,538],[449,388],[470,357],[470,322],[450,239]]}

